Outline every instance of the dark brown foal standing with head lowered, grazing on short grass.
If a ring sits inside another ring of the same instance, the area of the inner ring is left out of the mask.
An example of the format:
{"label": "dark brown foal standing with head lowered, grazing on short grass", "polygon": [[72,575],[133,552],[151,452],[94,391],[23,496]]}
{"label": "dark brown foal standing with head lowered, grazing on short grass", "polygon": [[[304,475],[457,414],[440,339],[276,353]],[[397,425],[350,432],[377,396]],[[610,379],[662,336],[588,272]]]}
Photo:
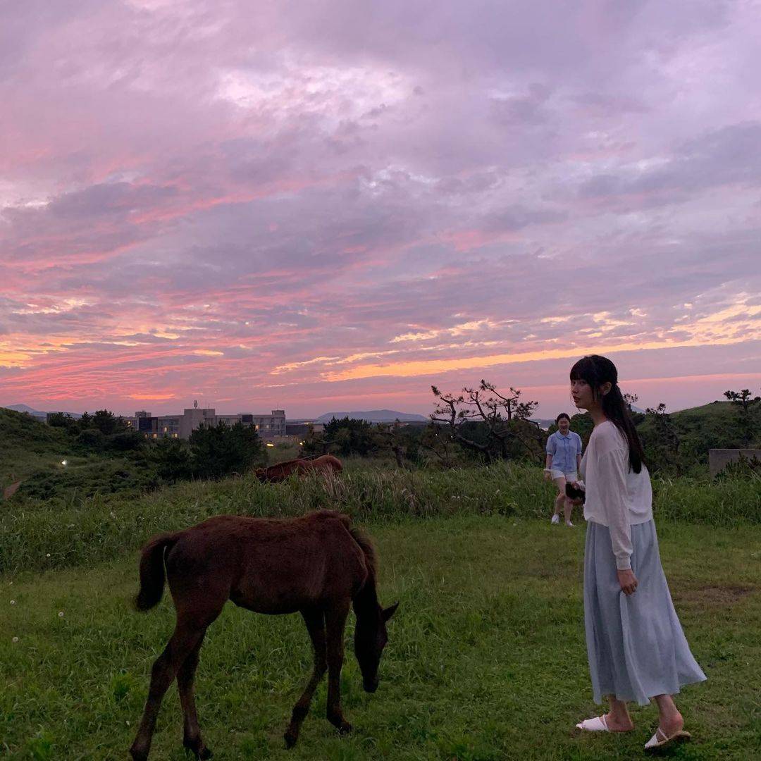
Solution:
{"label": "dark brown foal standing with head lowered, grazing on short grass", "polygon": [[384,610],[377,600],[377,559],[368,537],[349,517],[320,511],[298,518],[218,515],[177,533],[162,533],[143,548],[138,610],[161,600],[164,567],[177,611],[177,625],[151,669],[145,712],[130,753],[147,759],[156,717],[177,678],[183,708],[183,745],[208,759],[201,739],[193,676],[206,629],[227,600],[255,613],[301,613],[314,646],[314,671],[293,708],[285,732],[287,747],[298,740],[301,724],[325,671],[327,718],[341,734],[351,725],[341,711],[343,631],[349,606],[357,617],[354,647],[365,690],[378,686],[380,655],[387,642],[386,622],[399,603]]}

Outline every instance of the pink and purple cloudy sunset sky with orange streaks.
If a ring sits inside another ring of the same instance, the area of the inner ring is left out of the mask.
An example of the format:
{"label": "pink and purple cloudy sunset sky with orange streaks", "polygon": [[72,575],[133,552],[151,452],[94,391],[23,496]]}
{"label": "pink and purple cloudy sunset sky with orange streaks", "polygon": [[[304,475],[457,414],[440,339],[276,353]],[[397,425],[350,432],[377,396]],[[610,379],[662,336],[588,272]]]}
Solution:
{"label": "pink and purple cloudy sunset sky with orange streaks", "polygon": [[761,393],[756,0],[24,0],[0,404]]}

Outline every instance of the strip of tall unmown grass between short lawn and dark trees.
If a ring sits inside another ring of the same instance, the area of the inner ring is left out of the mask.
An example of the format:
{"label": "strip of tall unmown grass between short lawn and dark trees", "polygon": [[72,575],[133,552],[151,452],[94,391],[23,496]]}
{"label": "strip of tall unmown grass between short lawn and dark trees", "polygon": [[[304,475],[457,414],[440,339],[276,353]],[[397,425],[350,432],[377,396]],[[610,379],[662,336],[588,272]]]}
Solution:
{"label": "strip of tall unmown grass between short lawn and dark trees", "polygon": [[[658,518],[730,526],[761,523],[761,479],[654,479]],[[517,463],[455,470],[399,470],[349,463],[337,479],[263,484],[253,476],[186,482],[142,497],[96,495],[55,502],[12,500],[0,510],[0,573],[89,565],[139,548],[158,531],[211,515],[301,515],[338,509],[359,520],[454,514],[547,517],[554,487]]]}

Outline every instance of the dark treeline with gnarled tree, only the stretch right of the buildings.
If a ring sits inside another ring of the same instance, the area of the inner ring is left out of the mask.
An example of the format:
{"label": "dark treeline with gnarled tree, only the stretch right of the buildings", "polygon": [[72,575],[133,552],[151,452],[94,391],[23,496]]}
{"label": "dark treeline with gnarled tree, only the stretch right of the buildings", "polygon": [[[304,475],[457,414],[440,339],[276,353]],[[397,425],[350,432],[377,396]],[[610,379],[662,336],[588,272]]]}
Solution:
{"label": "dark treeline with gnarled tree, only the stretch right of the buildings", "polygon": [[[538,403],[525,400],[520,390],[499,391],[481,380],[460,393],[431,387],[436,408],[428,425],[371,424],[364,420],[333,419],[323,432],[304,441],[305,454],[393,457],[400,467],[438,463],[444,467],[514,460],[540,464],[546,441],[556,425],[544,431],[531,420]],[[727,391],[731,403],[715,403],[671,415],[661,403],[645,412],[634,409],[638,396],[624,395],[652,473],[704,475],[708,450],[761,447],[761,396],[750,390]],[[593,423],[587,413],[571,419],[586,447]],[[740,470],[759,469],[744,463]]]}

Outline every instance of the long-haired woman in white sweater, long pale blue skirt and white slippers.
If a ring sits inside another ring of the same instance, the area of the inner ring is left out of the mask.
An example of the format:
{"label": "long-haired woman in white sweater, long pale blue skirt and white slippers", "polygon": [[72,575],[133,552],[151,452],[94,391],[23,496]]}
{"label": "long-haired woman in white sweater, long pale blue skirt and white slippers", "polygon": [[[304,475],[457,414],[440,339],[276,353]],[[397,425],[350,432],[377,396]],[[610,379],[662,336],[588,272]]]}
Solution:
{"label": "long-haired woman in white sweater, long pale blue skirt and white slippers", "polygon": [[571,370],[575,405],[594,431],[581,460],[584,518],[584,626],[594,700],[610,712],[582,731],[634,729],[628,701],[658,703],[658,729],[646,750],[689,739],[673,702],[680,687],[705,680],[673,609],[658,554],[650,476],[642,444],[610,359],[591,355]]}

